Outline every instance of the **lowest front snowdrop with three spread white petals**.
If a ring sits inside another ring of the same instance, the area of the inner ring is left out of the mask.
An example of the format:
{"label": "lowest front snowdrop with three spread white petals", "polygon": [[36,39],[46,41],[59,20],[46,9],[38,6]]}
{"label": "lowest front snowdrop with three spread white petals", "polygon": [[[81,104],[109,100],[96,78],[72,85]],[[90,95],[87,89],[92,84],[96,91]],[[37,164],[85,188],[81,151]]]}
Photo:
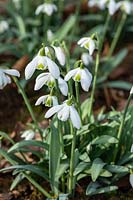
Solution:
{"label": "lowest front snowdrop with three spread white petals", "polygon": [[75,128],[80,129],[81,121],[77,110],[72,104],[72,100],[65,101],[62,105],[57,105],[50,108],[46,114],[45,118],[50,118],[52,115],[57,113],[57,117],[61,121],[67,121],[70,119]]}

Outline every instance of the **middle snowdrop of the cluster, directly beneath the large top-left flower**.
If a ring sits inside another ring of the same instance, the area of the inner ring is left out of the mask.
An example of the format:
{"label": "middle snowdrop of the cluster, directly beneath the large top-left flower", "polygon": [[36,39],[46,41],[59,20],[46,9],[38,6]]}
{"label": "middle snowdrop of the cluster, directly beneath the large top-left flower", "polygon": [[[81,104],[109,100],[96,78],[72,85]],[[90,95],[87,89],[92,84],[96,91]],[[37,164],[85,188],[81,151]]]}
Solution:
{"label": "middle snowdrop of the cluster, directly beneath the large top-left flower", "polygon": [[[53,88],[56,84],[55,78],[51,73],[42,73],[36,78],[34,90],[39,90],[43,85],[48,85],[48,87]],[[57,79],[59,89],[64,96],[68,94],[68,85],[64,79],[59,77]]]}

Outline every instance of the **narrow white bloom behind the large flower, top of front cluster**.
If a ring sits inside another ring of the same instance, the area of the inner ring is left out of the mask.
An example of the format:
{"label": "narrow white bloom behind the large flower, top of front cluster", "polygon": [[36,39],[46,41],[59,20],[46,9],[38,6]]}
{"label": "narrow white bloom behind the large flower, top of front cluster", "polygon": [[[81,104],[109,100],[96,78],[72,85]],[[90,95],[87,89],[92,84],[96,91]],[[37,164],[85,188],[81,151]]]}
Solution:
{"label": "narrow white bloom behind the large flower, top of front cluster", "polygon": [[62,47],[56,47],[53,46],[55,50],[55,56],[57,60],[59,61],[60,65],[64,66],[66,63],[66,57],[65,57],[65,52]]}

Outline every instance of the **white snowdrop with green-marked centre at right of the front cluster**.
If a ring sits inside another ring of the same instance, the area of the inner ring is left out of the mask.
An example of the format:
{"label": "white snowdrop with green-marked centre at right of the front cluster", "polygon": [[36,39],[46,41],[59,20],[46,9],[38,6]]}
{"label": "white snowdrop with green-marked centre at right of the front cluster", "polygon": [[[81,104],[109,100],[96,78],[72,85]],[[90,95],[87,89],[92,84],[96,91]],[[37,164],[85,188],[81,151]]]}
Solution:
{"label": "white snowdrop with green-marked centre at right of the front cluster", "polygon": [[92,81],[92,75],[88,69],[80,67],[73,69],[67,73],[65,81],[68,81],[70,78],[73,78],[74,81],[81,82],[83,90],[88,92]]}

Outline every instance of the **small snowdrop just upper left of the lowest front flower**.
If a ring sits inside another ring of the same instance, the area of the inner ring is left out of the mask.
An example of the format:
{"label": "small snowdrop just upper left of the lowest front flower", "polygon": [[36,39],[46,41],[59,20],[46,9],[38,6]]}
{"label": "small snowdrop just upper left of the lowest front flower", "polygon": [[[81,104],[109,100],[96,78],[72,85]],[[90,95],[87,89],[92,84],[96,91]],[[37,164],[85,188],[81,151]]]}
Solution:
{"label": "small snowdrop just upper left of the lowest front flower", "polygon": [[51,106],[56,106],[58,105],[58,100],[56,96],[52,96],[52,95],[44,95],[41,96],[35,103],[36,106],[40,105],[40,104],[45,104],[45,106],[51,107]]}

